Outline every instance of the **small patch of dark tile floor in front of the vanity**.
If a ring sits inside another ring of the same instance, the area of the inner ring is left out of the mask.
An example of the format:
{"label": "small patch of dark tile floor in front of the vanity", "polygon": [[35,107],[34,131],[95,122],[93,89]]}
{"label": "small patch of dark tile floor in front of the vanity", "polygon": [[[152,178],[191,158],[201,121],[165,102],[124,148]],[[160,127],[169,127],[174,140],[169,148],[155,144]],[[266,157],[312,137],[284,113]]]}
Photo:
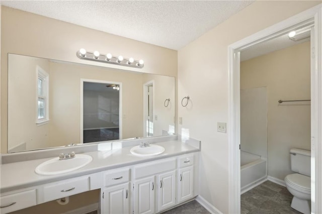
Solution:
{"label": "small patch of dark tile floor in front of the vanity", "polygon": [[162,214],[210,214],[198,201],[193,200],[176,208],[163,212]]}

